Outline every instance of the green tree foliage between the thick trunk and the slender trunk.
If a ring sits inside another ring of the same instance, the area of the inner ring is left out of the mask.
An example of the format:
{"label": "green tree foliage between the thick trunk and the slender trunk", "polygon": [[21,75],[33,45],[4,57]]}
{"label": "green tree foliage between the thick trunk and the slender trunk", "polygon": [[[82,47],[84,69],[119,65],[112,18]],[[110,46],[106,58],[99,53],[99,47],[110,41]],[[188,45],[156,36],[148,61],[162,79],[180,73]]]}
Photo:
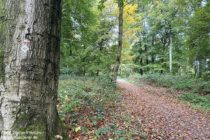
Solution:
{"label": "green tree foliage between the thick trunk and the slender trunk", "polygon": [[109,44],[113,23],[94,0],[64,0],[61,74],[109,73],[115,46]]}

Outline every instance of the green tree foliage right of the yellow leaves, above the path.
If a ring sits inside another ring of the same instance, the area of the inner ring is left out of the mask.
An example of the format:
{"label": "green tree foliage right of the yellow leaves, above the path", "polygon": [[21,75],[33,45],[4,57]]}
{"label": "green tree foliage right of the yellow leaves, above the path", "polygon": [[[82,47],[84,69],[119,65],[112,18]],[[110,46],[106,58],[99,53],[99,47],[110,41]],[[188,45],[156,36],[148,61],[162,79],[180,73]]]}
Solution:
{"label": "green tree foliage right of the yellow leaves, above the path", "polygon": [[[148,1],[139,5],[141,28],[132,55],[134,63],[142,67],[141,74],[167,73],[170,45],[173,47],[173,73],[199,72],[201,76],[209,71],[205,61],[210,57],[210,2],[201,3],[202,0],[170,0]],[[203,61],[200,70],[192,70],[195,60]]]}

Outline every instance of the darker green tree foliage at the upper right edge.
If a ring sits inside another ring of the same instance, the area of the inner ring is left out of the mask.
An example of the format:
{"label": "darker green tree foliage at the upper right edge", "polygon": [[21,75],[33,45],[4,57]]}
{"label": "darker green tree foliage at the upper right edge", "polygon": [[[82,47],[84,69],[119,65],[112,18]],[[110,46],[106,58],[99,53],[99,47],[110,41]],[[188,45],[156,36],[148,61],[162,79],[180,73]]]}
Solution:
{"label": "darker green tree foliage at the upper right edge", "polygon": [[187,43],[190,46],[190,58],[192,60],[210,57],[210,2],[196,9],[194,16],[190,19]]}

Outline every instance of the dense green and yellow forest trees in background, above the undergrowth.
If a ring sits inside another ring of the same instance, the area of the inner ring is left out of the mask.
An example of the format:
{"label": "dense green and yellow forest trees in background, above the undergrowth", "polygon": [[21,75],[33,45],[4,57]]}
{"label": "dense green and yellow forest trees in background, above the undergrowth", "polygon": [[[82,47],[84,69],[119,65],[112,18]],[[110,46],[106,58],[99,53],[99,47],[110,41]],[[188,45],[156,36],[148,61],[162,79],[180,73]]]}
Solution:
{"label": "dense green and yellow forest trees in background, above the undergrowth", "polygon": [[[109,75],[115,61],[115,1],[63,1],[61,74]],[[208,0],[128,1],[121,74],[173,73],[209,78]],[[1,2],[1,42],[4,41]],[[1,43],[1,60],[3,58]]]}

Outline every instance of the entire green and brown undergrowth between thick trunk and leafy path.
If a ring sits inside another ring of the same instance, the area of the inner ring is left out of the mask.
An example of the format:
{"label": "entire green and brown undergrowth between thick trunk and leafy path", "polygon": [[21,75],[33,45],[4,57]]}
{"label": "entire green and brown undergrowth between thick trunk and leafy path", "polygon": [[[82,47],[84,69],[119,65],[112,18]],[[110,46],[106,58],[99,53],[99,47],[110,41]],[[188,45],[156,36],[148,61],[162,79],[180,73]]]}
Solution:
{"label": "entire green and brown undergrowth between thick trunk and leafy path", "polygon": [[58,110],[70,139],[146,139],[121,106],[121,95],[106,77],[63,77]]}

